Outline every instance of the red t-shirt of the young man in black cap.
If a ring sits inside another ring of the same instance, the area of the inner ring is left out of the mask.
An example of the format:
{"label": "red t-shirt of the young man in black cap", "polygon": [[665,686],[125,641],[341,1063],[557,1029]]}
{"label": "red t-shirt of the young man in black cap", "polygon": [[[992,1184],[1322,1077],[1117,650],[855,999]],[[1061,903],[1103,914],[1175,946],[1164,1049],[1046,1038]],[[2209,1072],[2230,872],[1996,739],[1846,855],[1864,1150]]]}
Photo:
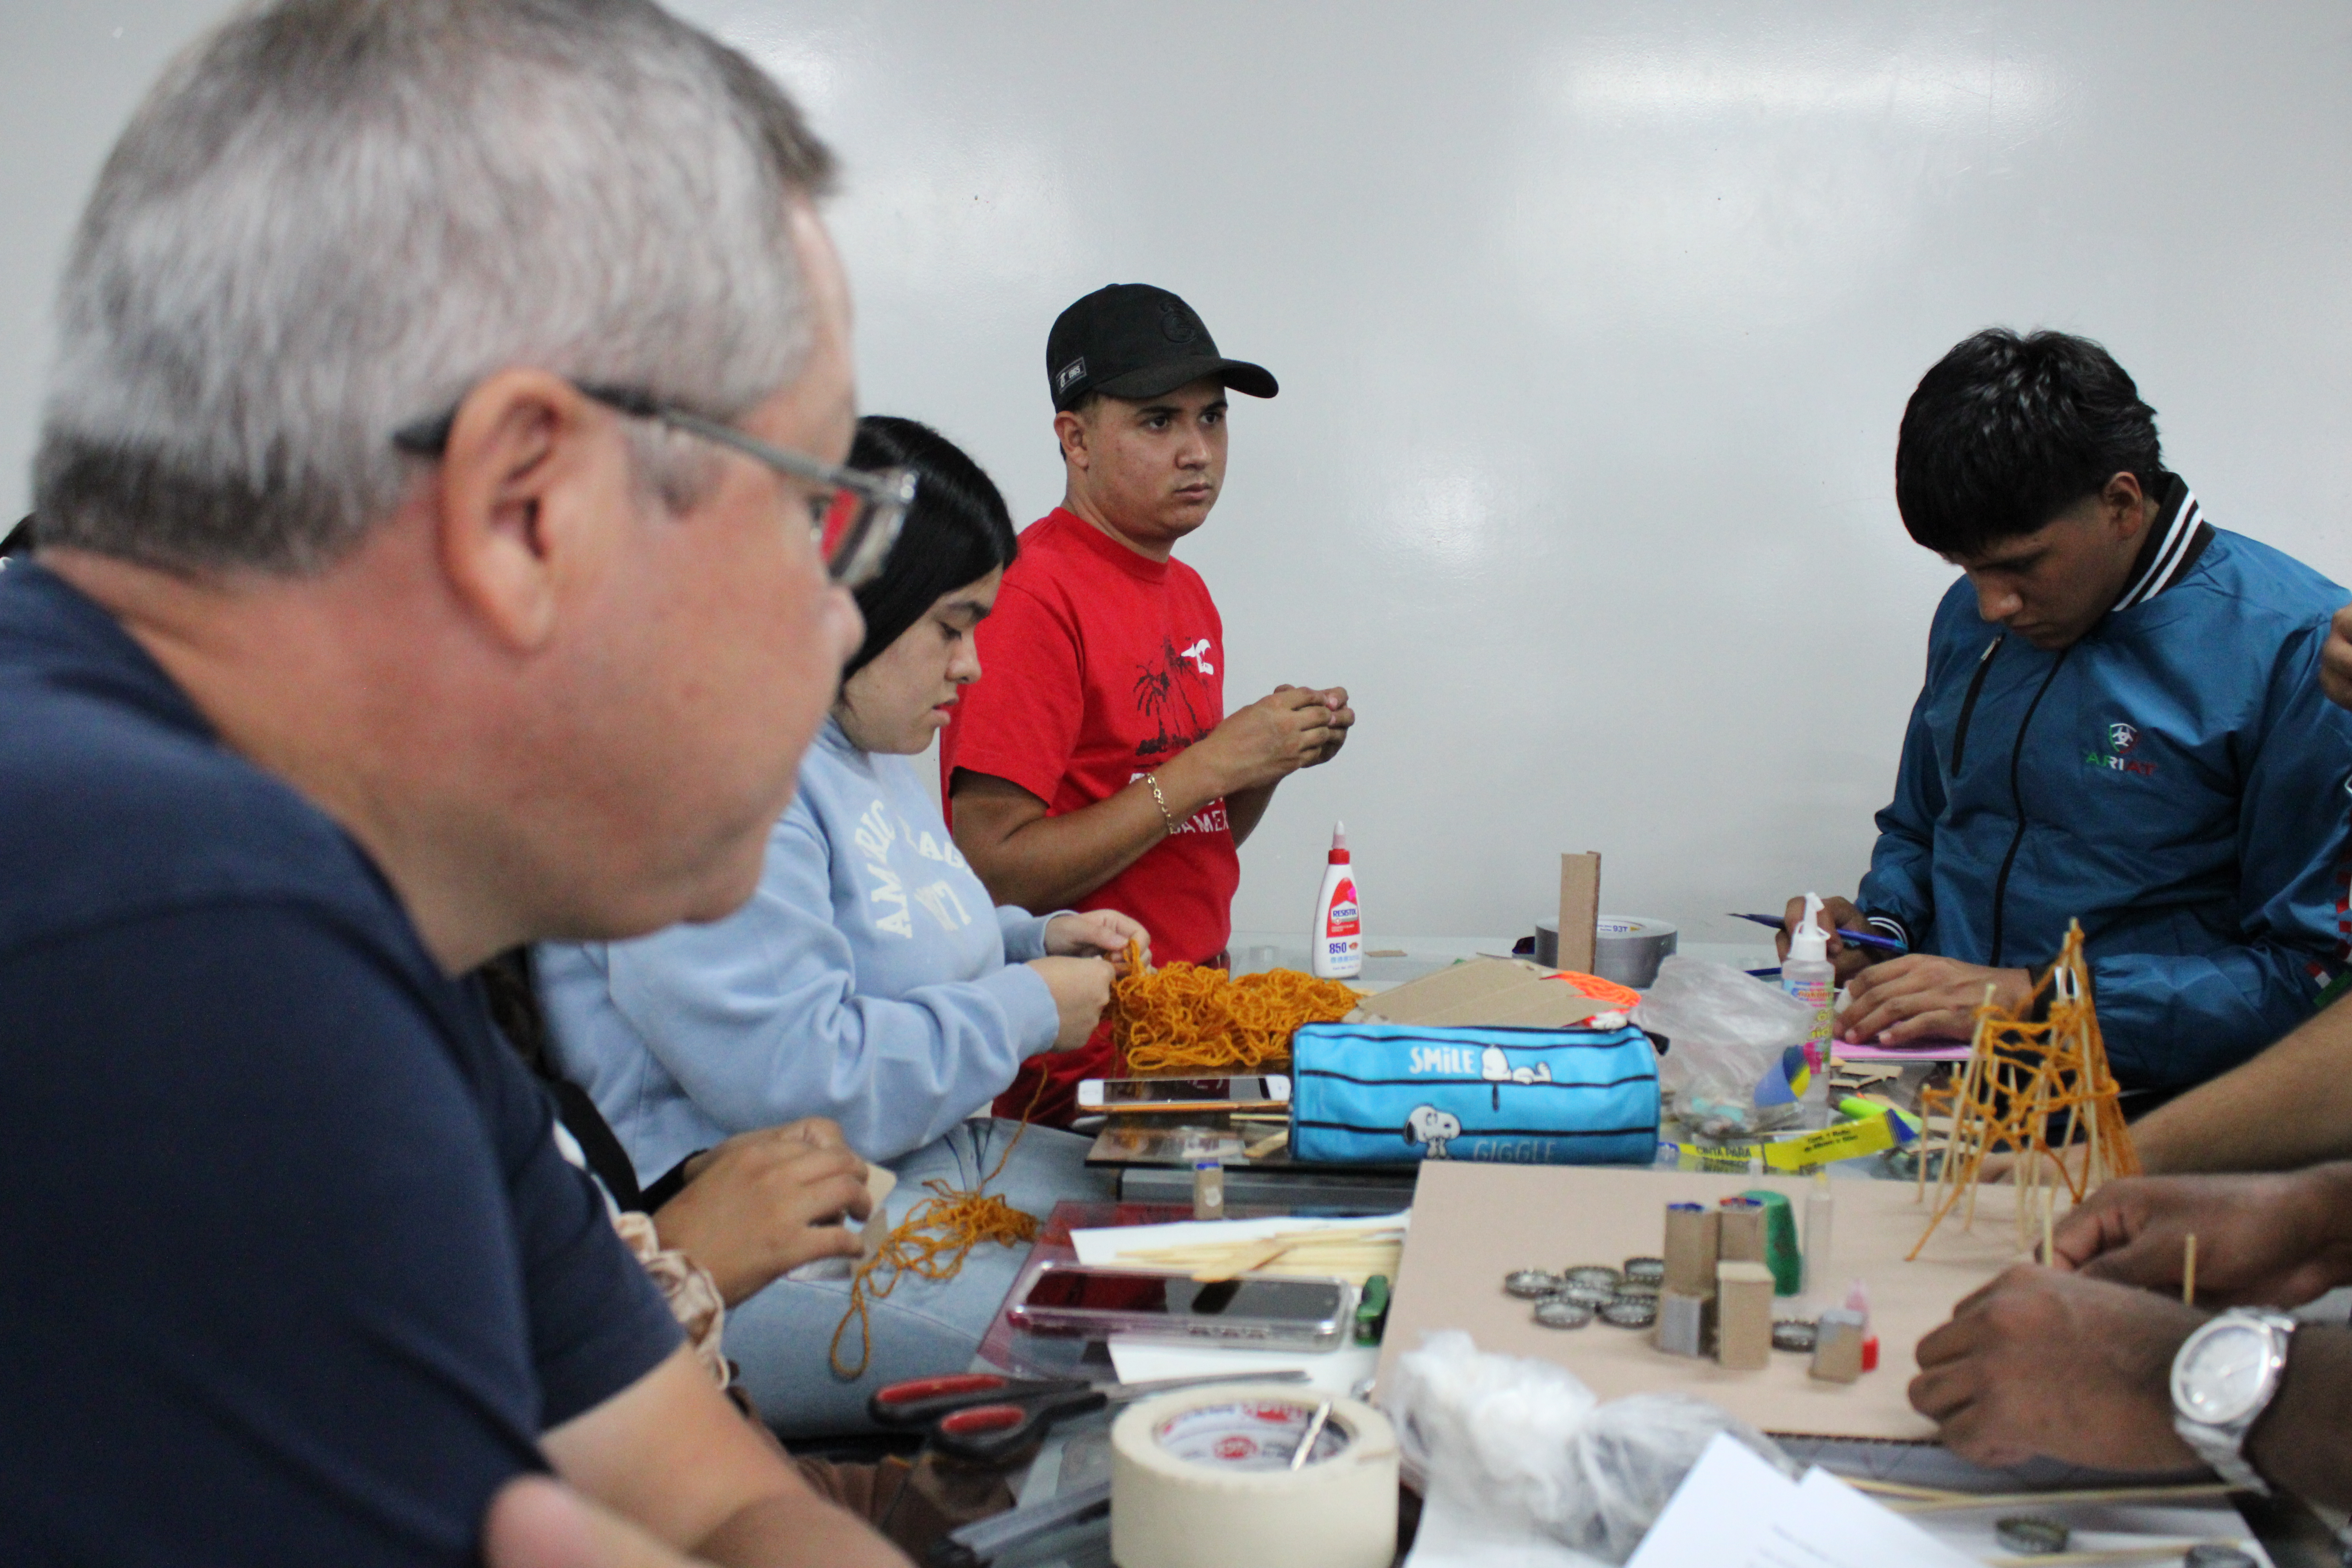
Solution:
{"label": "red t-shirt of the young man in black cap", "polygon": [[[995,614],[978,630],[981,679],[938,743],[941,792],[955,769],[1007,778],[1065,816],[1110,799],[1225,717],[1225,623],[1183,562],[1136,555],[1084,517],[1054,508],[1021,534]],[[1232,933],[1242,858],[1211,802],[1080,910],[1120,910],[1152,933],[1152,961],[1204,964]],[[1070,1119],[1075,1084],[1110,1067],[1105,1032],[1082,1051],[1033,1058],[997,1100],[1018,1117],[1051,1084],[1037,1119]]]}

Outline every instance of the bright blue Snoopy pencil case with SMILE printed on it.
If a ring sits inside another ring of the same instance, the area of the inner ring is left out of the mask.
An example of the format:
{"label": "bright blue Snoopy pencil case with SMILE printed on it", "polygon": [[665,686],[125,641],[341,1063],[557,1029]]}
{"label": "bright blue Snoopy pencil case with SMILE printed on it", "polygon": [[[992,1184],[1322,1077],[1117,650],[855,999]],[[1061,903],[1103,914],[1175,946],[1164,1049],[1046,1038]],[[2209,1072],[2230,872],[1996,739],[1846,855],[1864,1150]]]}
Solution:
{"label": "bright blue Snoopy pencil case with SMILE printed on it", "polygon": [[1291,1159],[1646,1166],[1658,1053],[1613,1030],[1310,1023],[1291,1037]]}

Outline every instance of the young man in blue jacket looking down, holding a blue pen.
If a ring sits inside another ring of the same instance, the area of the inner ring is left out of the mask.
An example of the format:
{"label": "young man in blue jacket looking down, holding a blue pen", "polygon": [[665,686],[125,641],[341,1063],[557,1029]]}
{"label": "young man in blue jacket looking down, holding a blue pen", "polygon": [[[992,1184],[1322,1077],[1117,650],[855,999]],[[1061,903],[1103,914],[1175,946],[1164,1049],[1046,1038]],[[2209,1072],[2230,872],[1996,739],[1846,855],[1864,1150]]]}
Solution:
{"label": "young man in blue jacket looking down, holding a blue pen", "polygon": [[1987,985],[2027,999],[2070,919],[2126,1088],[2310,1018],[2347,952],[2352,719],[2319,689],[2345,590],[2206,522],[2131,376],[2060,331],[1980,331],[1919,381],[1896,505],[1966,578],[1870,875],[1830,900],[1907,947],[1832,938],[1842,1039],[1966,1034]]}

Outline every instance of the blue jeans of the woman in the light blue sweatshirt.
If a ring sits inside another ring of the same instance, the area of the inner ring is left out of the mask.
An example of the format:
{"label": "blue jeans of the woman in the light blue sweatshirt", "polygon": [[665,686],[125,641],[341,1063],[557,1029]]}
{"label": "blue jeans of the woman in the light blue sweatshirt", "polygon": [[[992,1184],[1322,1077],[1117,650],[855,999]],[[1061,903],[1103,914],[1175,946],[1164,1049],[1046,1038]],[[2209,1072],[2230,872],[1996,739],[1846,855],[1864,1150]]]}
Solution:
{"label": "blue jeans of the woman in the light blue sweatshirt", "polygon": [[[1018,1128],[1016,1121],[964,1121],[946,1138],[913,1154],[887,1161],[898,1173],[884,1215],[873,1222],[896,1225],[906,1213],[934,1197],[924,1182],[943,1178],[948,1187],[974,1187]],[[1040,1225],[1061,1199],[1115,1197],[1112,1171],[1089,1171],[1091,1138],[1033,1126],[1011,1152],[1002,1175],[988,1185],[1014,1208],[1037,1215]],[[873,1319],[873,1354],[866,1373],[844,1382],[833,1375],[828,1347],[833,1331],[849,1309],[849,1279],[779,1279],[741,1307],[727,1312],[727,1359],[741,1368],[743,1392],[760,1415],[783,1436],[828,1436],[873,1432],[866,1396],[901,1378],[960,1373],[971,1363],[981,1338],[997,1316],[1014,1274],[1028,1262],[1028,1246],[981,1241],[964,1258],[955,1279],[931,1281],[903,1274],[882,1300],[868,1293]],[[842,1333],[842,1361],[856,1363],[858,1326]]]}

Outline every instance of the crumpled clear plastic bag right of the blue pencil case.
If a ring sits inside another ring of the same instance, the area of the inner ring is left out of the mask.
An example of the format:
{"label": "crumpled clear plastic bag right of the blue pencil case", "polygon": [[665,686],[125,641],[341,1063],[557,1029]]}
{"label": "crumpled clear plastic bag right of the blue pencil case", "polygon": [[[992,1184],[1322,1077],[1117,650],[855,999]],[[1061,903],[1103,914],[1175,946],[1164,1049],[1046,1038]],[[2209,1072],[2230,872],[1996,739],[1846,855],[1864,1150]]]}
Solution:
{"label": "crumpled clear plastic bag right of the blue pencil case", "polygon": [[1658,1088],[1696,1133],[1722,1138],[1797,1121],[1795,1105],[1759,1107],[1757,1084],[1813,1032],[1813,1009],[1726,964],[1670,954],[1635,1023],[1665,1034]]}

